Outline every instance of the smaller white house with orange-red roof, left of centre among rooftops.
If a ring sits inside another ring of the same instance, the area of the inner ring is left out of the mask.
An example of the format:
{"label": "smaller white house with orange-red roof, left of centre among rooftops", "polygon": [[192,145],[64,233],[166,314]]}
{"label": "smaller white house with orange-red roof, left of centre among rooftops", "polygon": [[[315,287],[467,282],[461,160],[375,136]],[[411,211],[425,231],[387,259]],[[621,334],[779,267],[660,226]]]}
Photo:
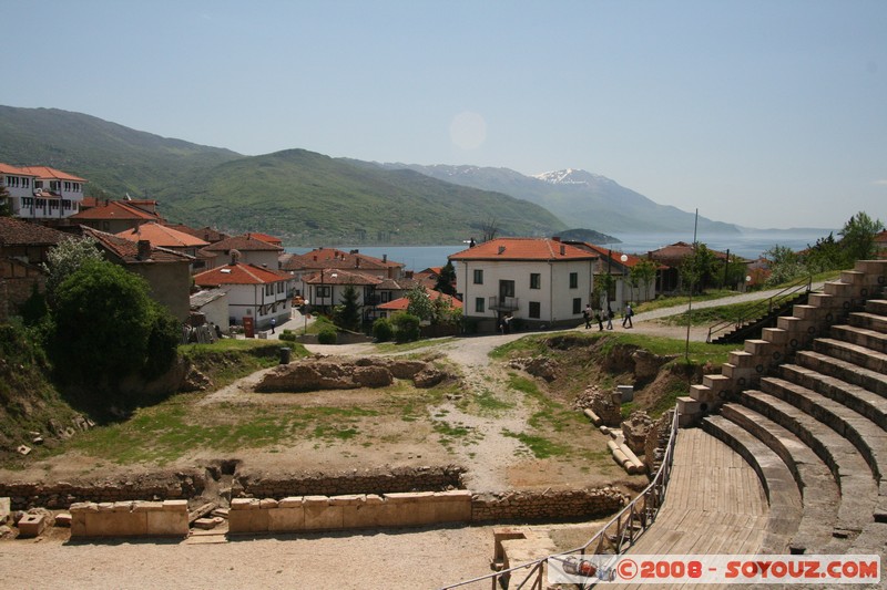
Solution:
{"label": "smaller white house with orange-red roof, left of centre among rooftops", "polygon": [[194,276],[197,287],[217,287],[228,293],[232,323],[243,323],[243,319],[248,317],[258,330],[269,329],[272,318],[277,323],[289,319],[292,310],[287,294],[292,282],[293,278],[286,272],[236,260]]}

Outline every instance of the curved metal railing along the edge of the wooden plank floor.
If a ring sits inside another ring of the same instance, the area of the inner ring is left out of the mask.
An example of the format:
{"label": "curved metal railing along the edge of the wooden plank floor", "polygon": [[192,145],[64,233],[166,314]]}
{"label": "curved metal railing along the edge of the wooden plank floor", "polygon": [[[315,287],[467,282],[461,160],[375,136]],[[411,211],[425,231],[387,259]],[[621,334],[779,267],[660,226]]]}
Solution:
{"label": "curved metal railing along the edge of the wooden plank floor", "polygon": [[[632,547],[640,536],[655,521],[659,510],[665,501],[665,490],[669,485],[669,479],[671,478],[672,462],[674,460],[674,445],[677,442],[677,408],[675,408],[671,431],[669,433],[669,443],[665,446],[662,464],[656,470],[656,475],[638,497],[620,510],[619,514],[584,545],[575,549],[521,563],[513,568],[445,586],[441,590],[478,584],[485,581],[490,583],[492,590],[496,590],[498,583],[501,583],[503,588],[509,587],[508,584],[511,577],[513,576],[517,578],[520,575],[522,575],[523,578],[514,588],[542,590],[546,588],[546,566],[549,561],[563,563],[574,556],[578,556],[581,561],[582,557],[588,555],[620,555],[625,549]],[[589,579],[588,583],[583,584],[583,588],[591,588],[594,583],[594,579]]]}

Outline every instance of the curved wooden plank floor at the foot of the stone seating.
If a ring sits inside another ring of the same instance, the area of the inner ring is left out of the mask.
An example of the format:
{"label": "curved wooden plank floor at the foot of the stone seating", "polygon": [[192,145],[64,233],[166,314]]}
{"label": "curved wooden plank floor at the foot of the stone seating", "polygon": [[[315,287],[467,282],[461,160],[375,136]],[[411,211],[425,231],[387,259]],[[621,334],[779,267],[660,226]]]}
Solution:
{"label": "curved wooden plank floor at the foot of the stone seating", "polygon": [[[629,555],[759,552],[769,507],[757,474],[745,459],[701,428],[685,428],[677,436],[673,467],[656,521]],[[651,586],[606,588],[646,590]]]}

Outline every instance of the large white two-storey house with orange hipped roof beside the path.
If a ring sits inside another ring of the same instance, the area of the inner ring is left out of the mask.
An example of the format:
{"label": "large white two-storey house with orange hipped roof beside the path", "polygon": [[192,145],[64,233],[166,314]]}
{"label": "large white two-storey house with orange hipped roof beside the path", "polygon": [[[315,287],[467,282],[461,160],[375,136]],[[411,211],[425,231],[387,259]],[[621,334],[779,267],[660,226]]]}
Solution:
{"label": "large white two-storey house with orange hipped roof beside the path", "polygon": [[557,238],[497,238],[449,259],[463,317],[493,331],[506,315],[528,328],[581,322],[599,257]]}

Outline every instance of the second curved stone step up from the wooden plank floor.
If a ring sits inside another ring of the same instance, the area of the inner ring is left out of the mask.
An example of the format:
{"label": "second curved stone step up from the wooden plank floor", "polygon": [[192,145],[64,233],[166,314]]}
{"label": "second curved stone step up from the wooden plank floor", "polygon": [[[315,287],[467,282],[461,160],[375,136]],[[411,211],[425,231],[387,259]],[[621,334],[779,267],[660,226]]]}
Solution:
{"label": "second curved stone step up from the wooden plank floor", "polygon": [[803,548],[803,552],[820,552],[830,542],[838,524],[840,490],[832,472],[797,436],[754,410],[740,404],[725,404],[721,408],[721,416],[755,435],[792,472],[804,506],[792,550]]}

